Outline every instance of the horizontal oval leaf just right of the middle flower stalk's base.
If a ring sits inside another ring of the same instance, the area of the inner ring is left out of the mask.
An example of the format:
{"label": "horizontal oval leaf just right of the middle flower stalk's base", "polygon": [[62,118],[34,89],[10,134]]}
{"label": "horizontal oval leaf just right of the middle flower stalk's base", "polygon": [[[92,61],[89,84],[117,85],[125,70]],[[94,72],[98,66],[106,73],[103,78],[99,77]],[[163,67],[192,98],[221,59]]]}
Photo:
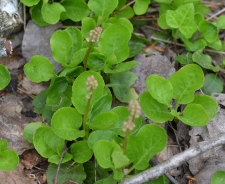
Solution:
{"label": "horizontal oval leaf just right of the middle flower stalk's base", "polygon": [[88,123],[92,130],[107,130],[118,121],[118,115],[114,112],[103,112],[98,114],[93,123]]}

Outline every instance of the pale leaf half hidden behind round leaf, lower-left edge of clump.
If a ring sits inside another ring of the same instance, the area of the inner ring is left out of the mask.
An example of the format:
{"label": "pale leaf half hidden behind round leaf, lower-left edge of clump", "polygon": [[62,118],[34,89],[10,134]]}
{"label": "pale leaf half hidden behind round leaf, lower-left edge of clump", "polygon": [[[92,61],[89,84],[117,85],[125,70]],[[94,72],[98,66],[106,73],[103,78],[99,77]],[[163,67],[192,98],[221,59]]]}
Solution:
{"label": "pale leaf half hidden behind round leaf, lower-left edge of clump", "polygon": [[28,142],[33,143],[35,131],[42,126],[46,125],[44,125],[42,122],[29,123],[23,129],[23,138],[26,139]]}

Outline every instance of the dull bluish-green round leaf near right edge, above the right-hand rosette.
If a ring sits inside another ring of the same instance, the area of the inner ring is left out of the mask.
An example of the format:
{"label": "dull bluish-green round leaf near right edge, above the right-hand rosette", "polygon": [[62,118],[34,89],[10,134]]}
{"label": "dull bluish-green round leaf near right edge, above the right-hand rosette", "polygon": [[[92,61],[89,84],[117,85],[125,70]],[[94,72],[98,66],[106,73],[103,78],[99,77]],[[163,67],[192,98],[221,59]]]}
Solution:
{"label": "dull bluish-green round leaf near right edge, above the right-hand rosette", "polygon": [[215,74],[207,74],[205,76],[202,90],[206,95],[211,95],[212,93],[221,93],[223,91],[223,81]]}

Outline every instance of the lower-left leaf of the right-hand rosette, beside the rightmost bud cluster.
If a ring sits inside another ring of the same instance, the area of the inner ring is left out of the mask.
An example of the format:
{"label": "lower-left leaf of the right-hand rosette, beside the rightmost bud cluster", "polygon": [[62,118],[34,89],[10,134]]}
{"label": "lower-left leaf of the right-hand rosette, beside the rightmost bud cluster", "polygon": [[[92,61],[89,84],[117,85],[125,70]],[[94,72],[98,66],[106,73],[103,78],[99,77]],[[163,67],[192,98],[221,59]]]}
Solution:
{"label": "lower-left leaf of the right-hand rosette, beside the rightmost bud cluster", "polygon": [[167,105],[159,103],[147,91],[141,94],[140,105],[143,113],[152,121],[164,123],[173,119]]}

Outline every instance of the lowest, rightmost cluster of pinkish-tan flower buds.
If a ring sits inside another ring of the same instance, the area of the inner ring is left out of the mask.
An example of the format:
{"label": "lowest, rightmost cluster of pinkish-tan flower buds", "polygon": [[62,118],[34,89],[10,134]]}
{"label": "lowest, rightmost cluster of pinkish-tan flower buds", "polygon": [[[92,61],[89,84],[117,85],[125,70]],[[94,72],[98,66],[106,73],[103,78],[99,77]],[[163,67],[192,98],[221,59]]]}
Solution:
{"label": "lowest, rightmost cluster of pinkish-tan flower buds", "polygon": [[123,131],[131,131],[134,129],[134,119],[139,118],[141,115],[141,107],[137,100],[131,100],[129,103],[128,110],[130,112],[130,115],[128,117],[128,121],[125,121],[123,123]]}

